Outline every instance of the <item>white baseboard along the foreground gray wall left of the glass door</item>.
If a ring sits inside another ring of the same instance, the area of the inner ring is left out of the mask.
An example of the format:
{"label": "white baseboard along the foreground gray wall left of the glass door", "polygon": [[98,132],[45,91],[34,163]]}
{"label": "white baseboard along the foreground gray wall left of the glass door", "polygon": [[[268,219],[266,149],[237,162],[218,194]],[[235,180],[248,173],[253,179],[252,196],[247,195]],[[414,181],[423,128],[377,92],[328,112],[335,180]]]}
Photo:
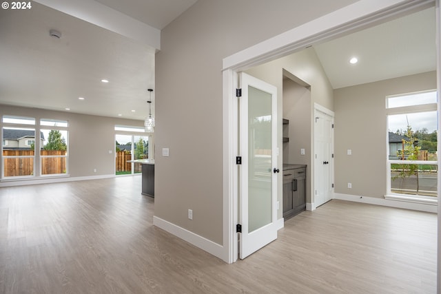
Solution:
{"label": "white baseboard along the foreground gray wall left of the glass door", "polygon": [[153,224],[154,226],[161,228],[164,231],[167,231],[173,235],[176,235],[176,237],[181,238],[189,242],[190,244],[202,249],[203,251],[207,251],[208,253],[228,263],[228,252],[227,250],[225,250],[224,246],[203,238],[202,236],[188,231],[187,229],[178,227],[176,224],[167,222],[167,220],[163,220],[162,218],[158,218],[157,216],[153,217]]}

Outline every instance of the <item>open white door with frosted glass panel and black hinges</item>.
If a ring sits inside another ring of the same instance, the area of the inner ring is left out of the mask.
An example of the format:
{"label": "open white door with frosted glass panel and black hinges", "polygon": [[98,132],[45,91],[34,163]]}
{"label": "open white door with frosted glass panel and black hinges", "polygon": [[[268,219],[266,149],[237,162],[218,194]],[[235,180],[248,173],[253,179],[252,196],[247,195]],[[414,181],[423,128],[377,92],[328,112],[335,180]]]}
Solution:
{"label": "open white door with frosted glass panel and black hinges", "polygon": [[277,238],[277,88],[240,74],[239,257]]}

